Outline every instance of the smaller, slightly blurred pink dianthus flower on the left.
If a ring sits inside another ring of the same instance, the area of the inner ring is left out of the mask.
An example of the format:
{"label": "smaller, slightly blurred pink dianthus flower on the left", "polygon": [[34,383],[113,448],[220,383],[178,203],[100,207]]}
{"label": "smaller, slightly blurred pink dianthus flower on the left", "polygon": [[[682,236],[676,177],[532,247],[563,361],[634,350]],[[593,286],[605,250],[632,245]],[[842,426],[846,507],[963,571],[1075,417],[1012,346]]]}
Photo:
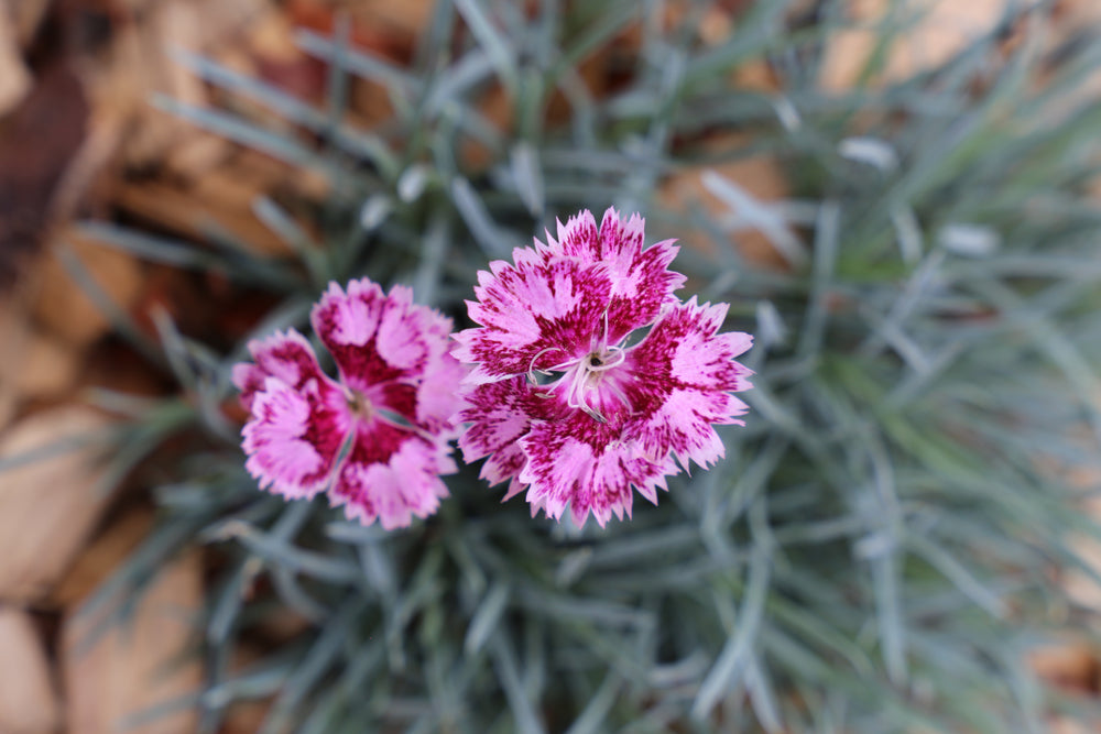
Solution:
{"label": "smaller, slightly blurred pink dianthus flower on the left", "polygon": [[261,489],[287,499],[328,490],[349,519],[404,527],[447,496],[456,470],[451,418],[462,407],[462,366],[447,353],[451,321],[363,278],[329,285],[310,313],[340,380],[326,375],[295,331],[249,343],[255,363],[233,368],[251,414],[246,468]]}

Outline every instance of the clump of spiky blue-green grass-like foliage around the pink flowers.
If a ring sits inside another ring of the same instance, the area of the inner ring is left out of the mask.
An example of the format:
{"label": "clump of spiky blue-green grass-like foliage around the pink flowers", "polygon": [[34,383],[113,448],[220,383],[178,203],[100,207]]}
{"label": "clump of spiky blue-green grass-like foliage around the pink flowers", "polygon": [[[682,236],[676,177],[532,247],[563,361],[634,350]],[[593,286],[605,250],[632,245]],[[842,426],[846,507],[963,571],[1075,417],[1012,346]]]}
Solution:
{"label": "clump of spiky blue-green grass-like foliage around the pink flowers", "polygon": [[[1101,437],[1101,216],[1081,190],[1101,110],[1072,107],[1101,66],[1088,44],[1038,53],[1040,7],[919,77],[827,95],[838,13],[791,6],[751,3],[709,46],[704,4],[668,28],[663,3],[443,1],[410,68],[304,33],[331,62],[328,110],[181,59],[316,133],[161,100],[330,176],[324,240],[271,201],[257,211],[296,259],[90,229],[277,294],[257,335],[301,327],[330,278],[364,274],[410,283],[469,326],[461,299],[487,260],[556,216],[615,205],[644,211],[652,241],[706,240],[678,269],[733,304],[727,328],[757,336],[752,409],[722,434],[726,460],[671,481],[632,522],[533,521],[468,467],[438,515],[385,533],[259,492],[218,409],[243,346],[215,353],[162,320],[184,391],[151,419],[179,426],[190,410],[207,438],[156,489],[160,529],[116,585],[140,587],[182,544],[221,559],[201,638],[205,731],[265,697],[266,731],[1043,728],[1053,701],[1022,651],[1053,620],[1076,624],[1058,571],[1081,565],[1072,532],[1094,533],[1065,478],[1095,465]],[[629,26],[641,40],[615,52],[620,86],[592,96],[579,64]],[[904,32],[882,29],[869,75]],[[761,58],[782,95],[732,84]],[[392,121],[341,121],[348,74],[389,89]],[[511,129],[476,105],[493,85]],[[570,112],[552,113],[563,100]],[[465,164],[467,145],[491,164]],[[704,183],[729,212],[655,196],[669,175],[760,151],[798,200],[762,205],[713,172]],[[731,247],[746,222],[774,234],[786,267]],[[231,670],[235,646],[286,610],[312,624]]]}

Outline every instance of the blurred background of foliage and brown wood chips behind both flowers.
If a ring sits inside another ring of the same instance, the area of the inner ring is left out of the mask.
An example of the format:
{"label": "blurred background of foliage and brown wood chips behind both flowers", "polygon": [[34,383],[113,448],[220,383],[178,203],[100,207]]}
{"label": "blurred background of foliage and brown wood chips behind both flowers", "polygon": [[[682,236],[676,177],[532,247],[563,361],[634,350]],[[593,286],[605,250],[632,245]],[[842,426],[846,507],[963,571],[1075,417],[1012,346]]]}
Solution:
{"label": "blurred background of foliage and brown wood chips behind both flowers", "polygon": [[[1099,28],[2,0],[0,732],[1097,731]],[[465,326],[610,205],[756,335],[727,462],[577,537],[255,490],[247,339],[361,275]]]}

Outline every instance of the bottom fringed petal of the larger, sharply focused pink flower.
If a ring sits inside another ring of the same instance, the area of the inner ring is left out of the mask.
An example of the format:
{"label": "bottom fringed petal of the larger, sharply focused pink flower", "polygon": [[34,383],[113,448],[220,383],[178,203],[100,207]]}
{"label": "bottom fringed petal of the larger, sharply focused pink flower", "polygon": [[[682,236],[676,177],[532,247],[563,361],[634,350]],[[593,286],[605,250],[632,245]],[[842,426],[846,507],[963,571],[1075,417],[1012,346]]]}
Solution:
{"label": "bottom fringed petal of the larger, sharply focused pink flower", "polygon": [[665,478],[679,469],[667,457],[647,458],[620,431],[574,413],[564,420],[541,421],[521,439],[528,456],[520,481],[530,484],[527,501],[558,519],[568,504],[578,526],[592,513],[601,527],[614,514],[631,515],[631,487],[651,502],[666,490]]}

